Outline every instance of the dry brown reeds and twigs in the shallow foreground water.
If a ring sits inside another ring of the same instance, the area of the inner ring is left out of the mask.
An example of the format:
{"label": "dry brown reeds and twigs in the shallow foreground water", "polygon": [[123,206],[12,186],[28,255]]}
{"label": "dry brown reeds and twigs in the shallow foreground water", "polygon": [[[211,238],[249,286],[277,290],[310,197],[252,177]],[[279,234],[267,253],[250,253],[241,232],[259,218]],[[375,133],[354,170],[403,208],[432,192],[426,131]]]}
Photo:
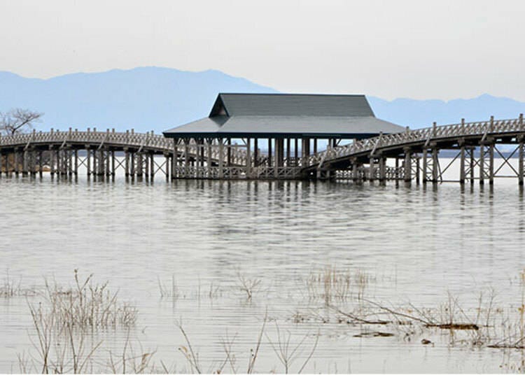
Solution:
{"label": "dry brown reeds and twigs in the shallow foreground water", "polygon": [[[251,304],[264,300],[270,280],[248,276],[237,271],[232,285],[197,287],[198,298],[218,299],[234,295]],[[472,296],[469,304],[447,293],[440,304],[418,306],[412,302],[384,302],[369,293],[377,276],[362,270],[339,270],[328,266],[311,271],[297,279],[297,296],[304,304],[289,316],[272,316],[266,308],[260,330],[253,334],[253,344],[241,351],[236,346],[237,334],[221,341],[223,359],[204,368],[191,334],[183,325],[183,318],[174,323],[183,341],[174,343],[178,355],[158,358],[155,349],[143,348],[136,338],[137,322],[141,316],[134,304],[120,299],[118,290],[111,290],[109,282],[95,281],[94,275],[80,276],[74,270],[70,285],[44,280],[41,287],[22,288],[22,279],[13,278],[7,271],[0,284],[1,298],[25,298],[31,326],[28,337],[31,347],[18,353],[21,373],[173,373],[173,372],[267,372],[258,367],[262,352],[275,358],[274,371],[301,373],[316,358],[319,341],[325,336],[325,327],[348,330],[355,339],[391,337],[402,344],[433,347],[445,341],[449,348],[476,348],[503,353],[503,369],[525,370],[525,271],[519,275],[514,304],[501,306],[493,289]],[[158,278],[160,299],[186,298],[172,275],[168,281]],[[370,294],[370,295],[369,295]],[[283,328],[284,323],[308,325],[302,337],[292,337]],[[315,327],[311,330],[311,327]],[[107,348],[101,334],[118,333],[123,337],[120,349]],[[197,343],[202,344],[202,343]],[[244,344],[246,345],[246,344]],[[518,355],[514,355],[518,353]],[[519,358],[517,358],[519,357]],[[171,365],[168,365],[171,364]],[[247,364],[247,365],[246,365]]]}

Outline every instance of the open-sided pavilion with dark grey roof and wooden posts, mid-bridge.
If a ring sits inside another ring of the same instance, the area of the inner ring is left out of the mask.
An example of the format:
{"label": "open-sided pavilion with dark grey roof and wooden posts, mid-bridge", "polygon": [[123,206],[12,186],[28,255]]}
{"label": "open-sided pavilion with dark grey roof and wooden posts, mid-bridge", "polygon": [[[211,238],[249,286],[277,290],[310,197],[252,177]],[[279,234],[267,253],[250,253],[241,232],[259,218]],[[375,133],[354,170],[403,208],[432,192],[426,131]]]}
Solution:
{"label": "open-sided pavilion with dark grey roof and wooden posts, mid-bridge", "polygon": [[376,118],[364,95],[219,94],[207,118],[164,135],[173,178],[301,178],[321,148],[403,130]]}

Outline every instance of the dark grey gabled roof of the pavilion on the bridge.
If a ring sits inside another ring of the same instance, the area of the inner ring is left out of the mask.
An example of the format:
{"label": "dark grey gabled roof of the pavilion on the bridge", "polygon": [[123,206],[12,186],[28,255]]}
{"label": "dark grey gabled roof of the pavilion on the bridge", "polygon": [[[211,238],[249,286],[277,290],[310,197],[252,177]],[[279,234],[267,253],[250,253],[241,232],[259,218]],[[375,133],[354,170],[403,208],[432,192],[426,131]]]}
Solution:
{"label": "dark grey gabled roof of the pavilion on the bridge", "polygon": [[219,94],[209,117],[164,135],[365,138],[403,130],[375,118],[364,95]]}

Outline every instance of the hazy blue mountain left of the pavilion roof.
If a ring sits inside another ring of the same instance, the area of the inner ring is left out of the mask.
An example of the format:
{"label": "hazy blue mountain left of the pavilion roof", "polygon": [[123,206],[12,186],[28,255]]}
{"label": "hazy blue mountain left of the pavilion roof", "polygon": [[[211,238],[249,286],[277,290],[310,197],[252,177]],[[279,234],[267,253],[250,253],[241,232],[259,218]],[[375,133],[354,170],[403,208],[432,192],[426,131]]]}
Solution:
{"label": "hazy blue mountain left of the pavilion roof", "polygon": [[162,132],[209,114],[218,92],[276,92],[221,71],[144,67],[47,80],[0,72],[0,111],[45,113],[38,128],[115,127]]}

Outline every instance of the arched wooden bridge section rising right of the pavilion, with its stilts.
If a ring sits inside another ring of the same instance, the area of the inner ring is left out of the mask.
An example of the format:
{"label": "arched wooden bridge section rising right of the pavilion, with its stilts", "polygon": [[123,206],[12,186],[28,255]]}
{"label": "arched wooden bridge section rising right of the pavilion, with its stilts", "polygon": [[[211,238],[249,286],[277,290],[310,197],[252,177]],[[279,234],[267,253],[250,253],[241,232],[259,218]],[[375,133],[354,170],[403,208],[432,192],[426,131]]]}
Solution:
{"label": "arched wooden bridge section rising right of the pavilion, with its stilts", "polygon": [[[459,183],[489,181],[497,177],[514,177],[524,183],[523,115],[511,120],[464,122],[426,129],[380,135],[356,141],[346,146],[328,148],[304,161],[303,173],[317,178],[350,178],[354,181],[386,181],[402,179],[418,183],[443,181],[444,172],[459,160]],[[499,145],[514,145],[511,153],[504,153]],[[440,150],[455,150],[455,156],[444,167],[440,165]],[[495,160],[495,156],[496,157]],[[515,167],[512,157],[518,158]],[[396,167],[387,167],[386,160],[394,158]],[[496,165],[496,162],[499,165]],[[400,165],[401,164],[401,165]],[[365,167],[367,166],[367,167]],[[503,167],[510,176],[503,176]]]}

